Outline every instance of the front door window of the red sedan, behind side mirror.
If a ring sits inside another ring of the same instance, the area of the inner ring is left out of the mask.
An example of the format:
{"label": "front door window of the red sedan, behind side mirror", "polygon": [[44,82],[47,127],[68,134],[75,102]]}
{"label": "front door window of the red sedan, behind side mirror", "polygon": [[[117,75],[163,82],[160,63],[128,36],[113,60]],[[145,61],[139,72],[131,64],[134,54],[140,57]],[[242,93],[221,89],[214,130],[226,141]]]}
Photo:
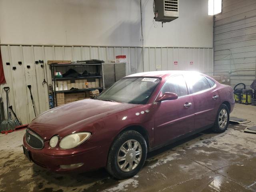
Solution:
{"label": "front door window of the red sedan, behind side mirror", "polygon": [[182,75],[169,78],[162,88],[162,95],[165,92],[176,93],[178,97],[188,95],[185,79]]}

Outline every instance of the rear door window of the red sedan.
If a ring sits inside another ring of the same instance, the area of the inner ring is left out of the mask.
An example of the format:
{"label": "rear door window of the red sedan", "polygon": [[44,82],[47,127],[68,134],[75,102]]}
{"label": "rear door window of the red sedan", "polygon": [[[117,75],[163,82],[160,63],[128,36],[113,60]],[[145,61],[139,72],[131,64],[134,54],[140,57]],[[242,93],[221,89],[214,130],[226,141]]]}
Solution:
{"label": "rear door window of the red sedan", "polygon": [[190,86],[191,93],[200,92],[210,88],[208,81],[202,75],[190,76],[187,83]]}

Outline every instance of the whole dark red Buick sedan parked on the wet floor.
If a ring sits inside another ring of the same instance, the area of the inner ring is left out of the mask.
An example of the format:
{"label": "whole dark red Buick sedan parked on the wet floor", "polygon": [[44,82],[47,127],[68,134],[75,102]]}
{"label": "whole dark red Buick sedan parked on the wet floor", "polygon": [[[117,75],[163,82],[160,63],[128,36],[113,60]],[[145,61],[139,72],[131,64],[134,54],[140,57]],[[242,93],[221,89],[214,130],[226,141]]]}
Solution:
{"label": "whole dark red Buick sedan parked on the wet floor", "polygon": [[24,154],[55,172],[105,167],[129,178],[149,151],[208,128],[224,132],[234,103],[230,86],[198,72],[133,74],[94,99],[38,116],[24,135]]}

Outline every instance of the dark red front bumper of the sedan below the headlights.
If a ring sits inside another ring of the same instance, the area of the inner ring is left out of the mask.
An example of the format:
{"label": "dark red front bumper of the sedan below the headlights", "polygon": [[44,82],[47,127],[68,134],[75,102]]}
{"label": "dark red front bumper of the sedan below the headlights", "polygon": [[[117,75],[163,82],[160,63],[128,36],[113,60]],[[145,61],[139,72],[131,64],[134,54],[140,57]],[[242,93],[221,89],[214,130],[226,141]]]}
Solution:
{"label": "dark red front bumper of the sedan below the headlights", "polygon": [[[58,173],[87,172],[106,166],[108,149],[103,146],[95,146],[90,142],[84,142],[81,146],[71,150],[53,149],[49,147],[49,141],[44,142],[44,148],[36,150],[31,148],[23,138],[23,146],[29,151],[32,162],[41,167]],[[86,146],[84,148],[83,146]],[[83,163],[74,169],[61,169],[60,165]]]}

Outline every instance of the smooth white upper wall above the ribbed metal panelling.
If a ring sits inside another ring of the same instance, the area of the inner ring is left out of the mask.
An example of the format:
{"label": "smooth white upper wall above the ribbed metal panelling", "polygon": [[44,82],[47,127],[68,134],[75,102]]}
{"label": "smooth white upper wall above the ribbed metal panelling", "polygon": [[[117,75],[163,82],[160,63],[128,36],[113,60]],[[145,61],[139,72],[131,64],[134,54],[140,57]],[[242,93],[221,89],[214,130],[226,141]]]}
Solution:
{"label": "smooth white upper wall above the ribbed metal panelling", "polygon": [[[212,47],[208,0],[180,0],[163,28],[152,5],[142,0],[144,46]],[[0,26],[5,44],[142,45],[139,0],[0,0]]]}

